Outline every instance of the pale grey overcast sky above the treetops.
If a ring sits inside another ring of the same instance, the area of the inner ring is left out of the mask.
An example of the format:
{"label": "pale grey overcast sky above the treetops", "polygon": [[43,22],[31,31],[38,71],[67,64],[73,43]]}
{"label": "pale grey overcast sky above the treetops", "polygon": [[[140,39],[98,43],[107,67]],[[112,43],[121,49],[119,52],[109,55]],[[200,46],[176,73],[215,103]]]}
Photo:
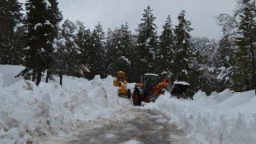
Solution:
{"label": "pale grey overcast sky above the treetops", "polygon": [[[25,2],[25,0],[20,0]],[[186,11],[186,20],[194,28],[190,32],[193,37],[219,39],[222,36],[221,27],[217,25],[218,14],[233,14],[235,0],[58,0],[59,9],[64,19],[84,22],[91,30],[98,22],[106,32],[108,28],[114,30],[128,22],[130,30],[138,28],[142,14],[147,6],[153,9],[158,34],[162,32],[162,25],[167,16],[178,24],[178,14]]]}

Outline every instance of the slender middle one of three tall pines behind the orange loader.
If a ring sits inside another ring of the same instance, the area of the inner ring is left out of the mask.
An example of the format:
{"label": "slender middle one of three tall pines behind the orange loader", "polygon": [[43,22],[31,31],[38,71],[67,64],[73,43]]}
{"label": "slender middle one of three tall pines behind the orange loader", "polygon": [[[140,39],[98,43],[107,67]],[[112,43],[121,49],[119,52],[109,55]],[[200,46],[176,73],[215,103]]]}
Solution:
{"label": "slender middle one of three tall pines behind the orange loader", "polygon": [[162,26],[163,31],[160,35],[159,51],[158,51],[158,74],[162,74],[167,78],[172,76],[174,68],[174,30],[170,15],[166,19],[166,23]]}

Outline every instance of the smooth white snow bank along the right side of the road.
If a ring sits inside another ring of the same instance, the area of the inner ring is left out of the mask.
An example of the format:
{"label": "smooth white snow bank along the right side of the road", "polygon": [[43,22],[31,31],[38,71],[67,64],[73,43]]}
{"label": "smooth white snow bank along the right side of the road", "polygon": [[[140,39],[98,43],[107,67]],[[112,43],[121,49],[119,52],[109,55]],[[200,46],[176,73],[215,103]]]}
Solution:
{"label": "smooth white snow bank along the right side of the road", "polygon": [[198,91],[194,100],[171,98],[166,92],[145,107],[169,115],[170,121],[197,143],[253,144],[256,142],[255,103],[254,90],[244,93],[224,90],[209,97]]}

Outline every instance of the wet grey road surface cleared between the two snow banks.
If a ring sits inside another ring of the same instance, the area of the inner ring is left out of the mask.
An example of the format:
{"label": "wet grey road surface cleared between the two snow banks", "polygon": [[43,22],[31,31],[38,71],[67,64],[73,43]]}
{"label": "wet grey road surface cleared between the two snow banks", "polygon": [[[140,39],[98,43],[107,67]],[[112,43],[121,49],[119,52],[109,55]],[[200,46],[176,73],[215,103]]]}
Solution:
{"label": "wet grey road surface cleared between the two snow banks", "polygon": [[[165,114],[156,110],[133,109],[136,118],[124,123],[110,122],[110,124],[85,130],[69,138],[65,143],[123,143],[134,140],[145,144],[189,144],[181,130],[170,124]],[[138,114],[136,114],[138,113]]]}

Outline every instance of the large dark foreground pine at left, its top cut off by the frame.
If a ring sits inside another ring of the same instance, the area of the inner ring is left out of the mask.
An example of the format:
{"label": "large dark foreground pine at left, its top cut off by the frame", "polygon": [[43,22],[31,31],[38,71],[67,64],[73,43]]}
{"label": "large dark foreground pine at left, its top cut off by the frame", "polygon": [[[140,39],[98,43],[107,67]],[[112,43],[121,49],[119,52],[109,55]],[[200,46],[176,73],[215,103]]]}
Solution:
{"label": "large dark foreground pine at left, its top cut off by the frame", "polygon": [[36,85],[41,82],[42,73],[54,66],[53,42],[57,37],[58,22],[62,16],[58,11],[56,0],[26,1],[26,69],[22,76],[32,75],[37,79]]}

